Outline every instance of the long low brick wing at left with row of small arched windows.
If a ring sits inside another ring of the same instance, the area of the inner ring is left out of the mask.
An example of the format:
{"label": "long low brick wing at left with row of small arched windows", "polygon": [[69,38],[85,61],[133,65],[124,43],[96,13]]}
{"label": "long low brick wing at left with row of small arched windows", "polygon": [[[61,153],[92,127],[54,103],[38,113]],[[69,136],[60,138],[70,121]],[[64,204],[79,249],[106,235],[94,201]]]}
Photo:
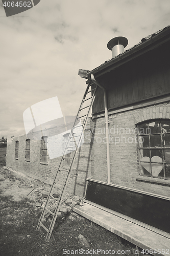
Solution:
{"label": "long low brick wing at left with row of small arched windows", "polygon": [[[69,126],[71,126],[71,123],[67,123],[67,128]],[[89,137],[89,127],[90,120],[86,126],[83,145],[78,150],[77,159],[74,164],[74,168],[72,169],[70,181],[67,186],[69,193],[79,196],[83,196],[85,193],[87,171],[91,165],[91,142],[89,143],[89,138],[91,140],[91,135]],[[58,127],[53,127],[52,129],[50,128],[42,131],[44,135],[42,139],[37,139],[40,137],[39,131],[31,131],[28,136],[20,135],[8,138],[6,166],[35,180],[52,184],[61,161],[62,151],[70,130],[66,132],[63,131],[65,131],[65,125],[60,125]],[[51,142],[51,138],[53,138],[50,137],[51,134],[58,134],[58,136],[55,136],[55,141],[53,141],[56,144],[54,148],[53,145],[50,148],[48,146],[44,146],[45,144]],[[46,141],[46,138],[49,138],[50,140]],[[50,154],[46,148],[49,148]],[[54,157],[53,151],[55,151],[55,153],[57,152],[59,157]],[[69,153],[69,156],[70,154],[72,154],[72,152]],[[52,157],[50,158],[49,155],[52,155]],[[60,172],[57,176],[57,187],[61,187],[65,180],[69,161],[70,160],[64,160],[63,172]]]}

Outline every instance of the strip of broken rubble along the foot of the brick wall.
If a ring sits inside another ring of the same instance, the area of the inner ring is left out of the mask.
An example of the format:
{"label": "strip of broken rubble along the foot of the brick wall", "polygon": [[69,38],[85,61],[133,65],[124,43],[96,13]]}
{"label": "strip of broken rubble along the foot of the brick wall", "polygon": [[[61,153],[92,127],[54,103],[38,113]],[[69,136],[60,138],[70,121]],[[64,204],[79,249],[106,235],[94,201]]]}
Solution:
{"label": "strip of broken rubble along the foot of the brick wall", "polygon": [[[11,172],[9,168],[0,168],[0,189],[2,190],[1,195],[12,196],[12,200],[21,201],[28,199],[28,203],[35,207],[44,207],[46,202],[45,194],[50,192],[51,185],[45,184],[36,180],[26,180],[25,177],[20,178]],[[61,189],[54,188],[53,196],[59,197]],[[81,198],[75,195],[64,193],[64,197],[61,203],[59,216],[66,214],[67,211],[71,210],[71,207],[79,204]],[[48,208],[54,210],[57,205],[57,201],[50,200]],[[37,208],[36,208],[37,209]]]}

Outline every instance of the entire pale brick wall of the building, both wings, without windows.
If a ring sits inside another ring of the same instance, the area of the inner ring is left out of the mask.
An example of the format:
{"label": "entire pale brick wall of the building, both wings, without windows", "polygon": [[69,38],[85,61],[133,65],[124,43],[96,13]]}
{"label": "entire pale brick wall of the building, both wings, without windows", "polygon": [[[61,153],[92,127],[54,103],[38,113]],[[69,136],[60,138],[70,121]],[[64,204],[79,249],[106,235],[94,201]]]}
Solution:
{"label": "entire pale brick wall of the building, both wings, without windows", "polygon": [[[155,184],[150,180],[137,181],[139,177],[136,124],[155,118],[170,118],[170,103],[109,115],[111,183],[130,189],[169,197],[169,184]],[[94,134],[92,134],[94,133]],[[48,165],[40,164],[40,141],[31,140],[30,162],[25,161],[26,135],[11,138],[7,144],[7,166],[35,179],[52,183],[61,157],[50,159]],[[84,144],[79,148],[67,190],[84,196],[86,178],[107,182],[107,154],[105,117],[89,119],[84,133]],[[19,141],[19,157],[15,159],[15,141]],[[66,173],[60,172],[57,185],[64,182]]]}

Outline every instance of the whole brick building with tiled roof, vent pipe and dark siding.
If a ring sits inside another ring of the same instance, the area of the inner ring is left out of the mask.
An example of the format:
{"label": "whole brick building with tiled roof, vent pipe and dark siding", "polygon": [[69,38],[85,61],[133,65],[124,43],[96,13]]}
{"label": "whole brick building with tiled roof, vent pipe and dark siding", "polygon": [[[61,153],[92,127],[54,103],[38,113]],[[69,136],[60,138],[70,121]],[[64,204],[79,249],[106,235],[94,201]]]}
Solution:
{"label": "whole brick building with tiled roof, vent pipe and dark siding", "polygon": [[[117,40],[117,42],[116,42]],[[122,41],[122,42],[121,42]],[[170,27],[108,48],[121,52],[79,75],[99,89],[67,189],[87,201],[170,233]],[[114,48],[114,49],[113,49]],[[108,112],[108,113],[107,113]],[[108,115],[108,121],[106,120]],[[108,139],[106,138],[108,135]],[[44,161],[40,140],[8,140],[7,166],[51,183],[60,157]],[[30,150],[30,158],[27,151]],[[59,174],[58,184],[65,173]]]}

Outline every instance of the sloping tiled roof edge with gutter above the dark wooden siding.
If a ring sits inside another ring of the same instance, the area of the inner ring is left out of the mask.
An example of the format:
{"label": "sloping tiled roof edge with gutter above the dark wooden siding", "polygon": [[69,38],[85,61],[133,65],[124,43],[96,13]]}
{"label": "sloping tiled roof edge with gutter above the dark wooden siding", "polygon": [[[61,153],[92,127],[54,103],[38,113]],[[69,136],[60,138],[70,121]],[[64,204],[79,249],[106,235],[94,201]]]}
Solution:
{"label": "sloping tiled roof edge with gutter above the dark wooden siding", "polygon": [[160,45],[162,45],[164,42],[170,40],[170,25],[167,27],[158,30],[157,32],[143,37],[141,41],[126,50],[125,52],[115,56],[114,58],[111,58],[109,60],[106,60],[102,65],[99,67],[89,71],[89,70],[79,70],[79,75],[83,78],[90,79],[90,75],[93,74],[96,77],[99,77],[106,72],[109,72],[124,63],[130,61],[131,59],[134,59],[141,54],[148,52]]}

